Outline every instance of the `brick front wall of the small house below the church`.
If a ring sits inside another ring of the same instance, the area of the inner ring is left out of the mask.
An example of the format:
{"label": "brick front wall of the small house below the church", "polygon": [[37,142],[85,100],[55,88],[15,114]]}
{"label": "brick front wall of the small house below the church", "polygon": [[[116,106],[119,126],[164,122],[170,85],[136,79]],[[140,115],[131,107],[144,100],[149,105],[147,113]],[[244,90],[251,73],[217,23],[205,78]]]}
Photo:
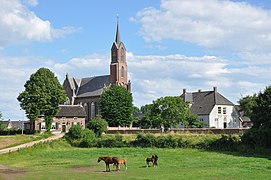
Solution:
{"label": "brick front wall of the small house below the church", "polygon": [[[54,134],[66,133],[75,124],[80,124],[81,127],[85,128],[85,117],[54,117],[51,132]],[[35,121],[35,130],[46,131],[43,117]]]}

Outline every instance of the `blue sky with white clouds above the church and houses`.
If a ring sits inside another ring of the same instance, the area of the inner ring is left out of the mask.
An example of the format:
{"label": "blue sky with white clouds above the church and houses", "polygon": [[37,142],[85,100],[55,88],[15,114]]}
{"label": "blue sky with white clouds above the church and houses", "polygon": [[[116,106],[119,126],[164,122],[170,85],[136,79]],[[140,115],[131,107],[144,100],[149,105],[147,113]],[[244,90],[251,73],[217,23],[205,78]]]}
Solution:
{"label": "blue sky with white clouds above the church and houses", "polygon": [[62,84],[109,74],[117,17],[134,105],[218,88],[237,104],[271,79],[270,0],[0,0],[0,112],[39,68]]}

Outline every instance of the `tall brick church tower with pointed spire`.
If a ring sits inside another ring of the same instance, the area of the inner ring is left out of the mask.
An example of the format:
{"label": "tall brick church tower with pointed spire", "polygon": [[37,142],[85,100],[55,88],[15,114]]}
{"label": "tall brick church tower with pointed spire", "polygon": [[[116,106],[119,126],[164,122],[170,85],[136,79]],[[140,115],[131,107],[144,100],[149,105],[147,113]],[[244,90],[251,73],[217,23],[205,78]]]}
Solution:
{"label": "tall brick church tower with pointed spire", "polygon": [[126,48],[121,41],[119,22],[117,22],[116,38],[111,48],[110,83],[121,85],[130,92],[131,83],[128,81],[127,74]]}

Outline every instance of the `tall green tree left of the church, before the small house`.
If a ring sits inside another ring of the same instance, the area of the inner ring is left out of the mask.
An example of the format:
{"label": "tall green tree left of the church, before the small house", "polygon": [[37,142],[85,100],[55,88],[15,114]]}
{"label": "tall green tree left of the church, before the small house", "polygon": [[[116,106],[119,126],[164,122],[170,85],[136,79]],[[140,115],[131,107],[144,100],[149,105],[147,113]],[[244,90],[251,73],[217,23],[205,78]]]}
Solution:
{"label": "tall green tree left of the church, before the small house", "polygon": [[18,101],[30,120],[44,115],[49,132],[53,117],[59,111],[59,104],[65,102],[66,93],[57,77],[47,68],[40,68],[26,81],[25,90],[19,94]]}

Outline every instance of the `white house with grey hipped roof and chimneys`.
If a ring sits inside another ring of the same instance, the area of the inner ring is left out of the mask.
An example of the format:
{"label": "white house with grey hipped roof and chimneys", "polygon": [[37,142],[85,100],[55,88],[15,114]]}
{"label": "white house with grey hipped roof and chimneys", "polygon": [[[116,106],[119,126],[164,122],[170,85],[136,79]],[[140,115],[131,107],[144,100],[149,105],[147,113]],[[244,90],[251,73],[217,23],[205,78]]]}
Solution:
{"label": "white house with grey hipped roof and chimneys", "polygon": [[190,102],[192,113],[197,114],[209,127],[214,128],[241,128],[239,113],[234,104],[227,98],[213,91],[186,92],[183,89],[182,98]]}

